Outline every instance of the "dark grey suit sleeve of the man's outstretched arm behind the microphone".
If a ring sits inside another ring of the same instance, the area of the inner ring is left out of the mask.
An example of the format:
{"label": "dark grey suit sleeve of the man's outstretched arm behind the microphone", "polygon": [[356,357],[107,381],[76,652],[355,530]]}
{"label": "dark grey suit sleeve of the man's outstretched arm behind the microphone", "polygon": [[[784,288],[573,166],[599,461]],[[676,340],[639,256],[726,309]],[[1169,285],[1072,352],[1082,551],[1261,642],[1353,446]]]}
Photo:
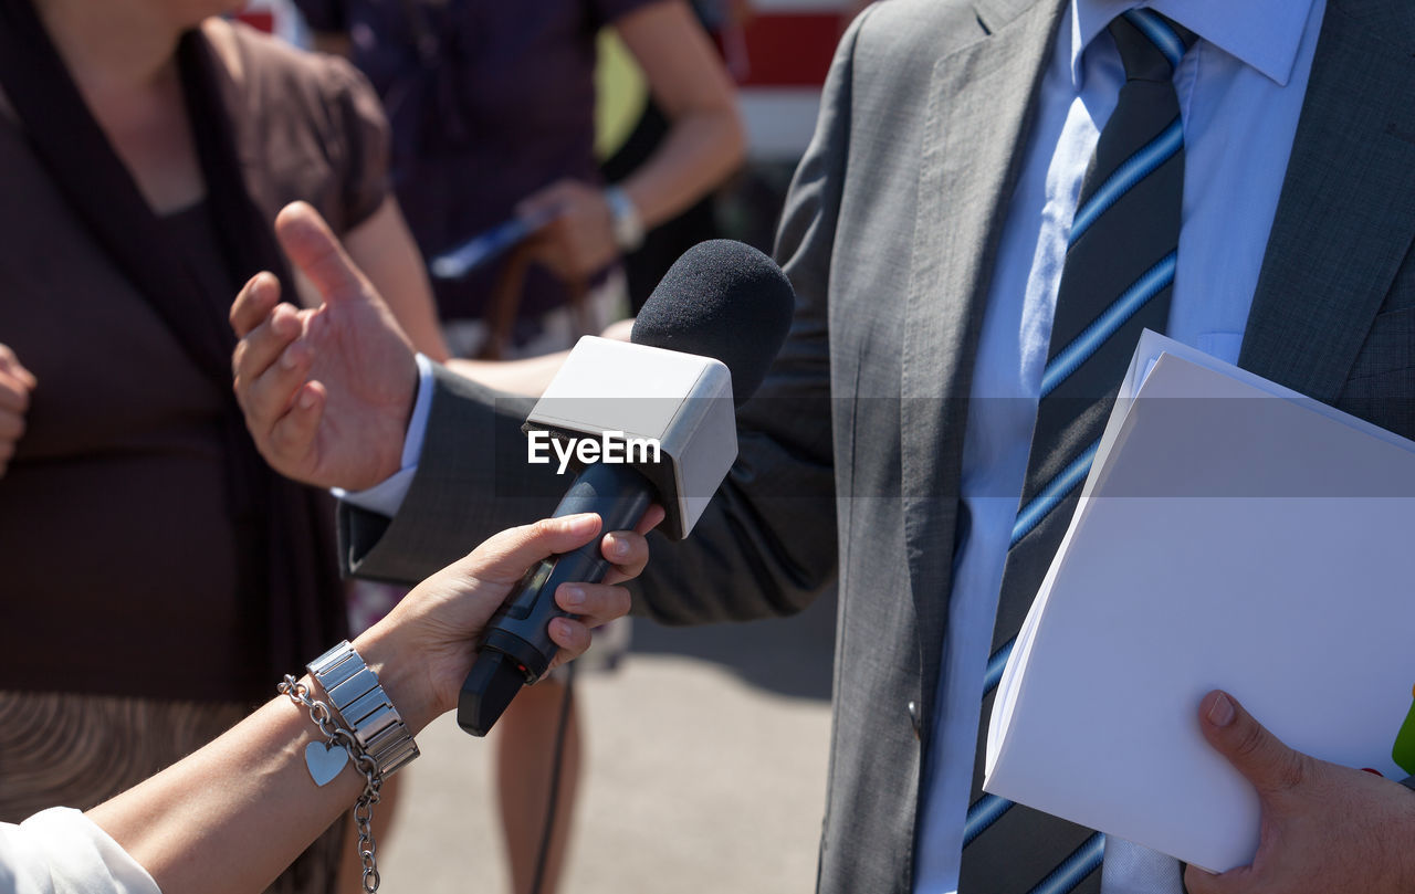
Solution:
{"label": "dark grey suit sleeve of the man's outstretched arm behind the microphone", "polygon": [[[857,27],[857,24],[856,24]],[[853,34],[826,82],[821,122],[792,181],[777,257],[797,290],[781,354],[739,412],[739,457],[683,542],[651,538],[635,613],[669,624],[790,614],[835,581],[828,301]],[[525,463],[528,402],[497,399],[446,371],[408,498],[389,522],[341,508],[342,556],[359,576],[417,580],[501,528],[549,513],[565,488]]]}

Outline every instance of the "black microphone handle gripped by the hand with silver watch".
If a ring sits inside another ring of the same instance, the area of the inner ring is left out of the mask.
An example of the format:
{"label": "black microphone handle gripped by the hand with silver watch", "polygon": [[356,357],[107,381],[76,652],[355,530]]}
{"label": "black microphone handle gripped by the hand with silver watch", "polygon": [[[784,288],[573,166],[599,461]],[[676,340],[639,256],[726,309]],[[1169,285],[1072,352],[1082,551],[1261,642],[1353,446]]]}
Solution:
{"label": "black microphone handle gripped by the hand with silver watch", "polygon": [[[628,464],[587,465],[566,491],[555,518],[594,512],[600,533],[631,530],[654,501],[654,487]],[[573,617],[555,604],[563,583],[599,583],[610,570],[600,538],[577,550],[543,559],[521,579],[487,622],[471,672],[457,700],[457,724],[485,736],[521,687],[541,679],[559,651],[550,641],[553,618]]]}

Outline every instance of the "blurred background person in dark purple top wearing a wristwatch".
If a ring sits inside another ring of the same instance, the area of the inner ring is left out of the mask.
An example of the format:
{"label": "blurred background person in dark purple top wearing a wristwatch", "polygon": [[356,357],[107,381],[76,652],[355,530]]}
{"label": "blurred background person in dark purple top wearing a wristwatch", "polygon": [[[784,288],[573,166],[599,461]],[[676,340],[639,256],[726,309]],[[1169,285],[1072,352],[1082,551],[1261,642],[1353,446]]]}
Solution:
{"label": "blurred background person in dark purple top wearing a wristwatch", "polygon": [[[683,0],[297,6],[316,47],[348,55],[382,96],[395,191],[427,257],[512,218],[545,221],[497,260],[461,279],[433,280],[453,354],[481,358],[451,368],[502,390],[539,393],[558,359],[487,361],[562,351],[627,313],[623,255],[741,163],[732,79]],[[621,166],[608,187],[594,151],[604,27],[642,69],[665,119],[654,150]],[[586,665],[613,666],[627,641],[624,620]],[[580,717],[563,676],[522,693],[495,738],[514,888],[548,894],[563,863],[582,764]],[[560,779],[552,796],[553,772]]]}

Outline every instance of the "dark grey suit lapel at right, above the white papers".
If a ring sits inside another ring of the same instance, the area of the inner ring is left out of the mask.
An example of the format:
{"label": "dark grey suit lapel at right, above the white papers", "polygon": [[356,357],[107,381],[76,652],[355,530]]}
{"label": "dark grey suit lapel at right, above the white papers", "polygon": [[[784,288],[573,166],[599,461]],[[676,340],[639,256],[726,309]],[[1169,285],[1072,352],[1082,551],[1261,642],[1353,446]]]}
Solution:
{"label": "dark grey suit lapel at right, above the white papers", "polygon": [[1395,6],[1327,3],[1238,361],[1329,403],[1415,232],[1415,47]]}

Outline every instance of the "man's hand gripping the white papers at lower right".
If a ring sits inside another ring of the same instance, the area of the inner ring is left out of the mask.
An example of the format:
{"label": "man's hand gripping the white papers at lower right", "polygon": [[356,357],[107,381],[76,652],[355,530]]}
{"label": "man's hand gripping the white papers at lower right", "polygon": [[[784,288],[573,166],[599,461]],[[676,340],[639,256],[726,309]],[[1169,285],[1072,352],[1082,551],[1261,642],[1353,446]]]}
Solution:
{"label": "man's hand gripping the white papers at lower right", "polygon": [[1293,751],[1223,692],[1199,710],[1204,737],[1258,789],[1262,837],[1249,866],[1190,867],[1190,894],[1415,891],[1415,792]]}

